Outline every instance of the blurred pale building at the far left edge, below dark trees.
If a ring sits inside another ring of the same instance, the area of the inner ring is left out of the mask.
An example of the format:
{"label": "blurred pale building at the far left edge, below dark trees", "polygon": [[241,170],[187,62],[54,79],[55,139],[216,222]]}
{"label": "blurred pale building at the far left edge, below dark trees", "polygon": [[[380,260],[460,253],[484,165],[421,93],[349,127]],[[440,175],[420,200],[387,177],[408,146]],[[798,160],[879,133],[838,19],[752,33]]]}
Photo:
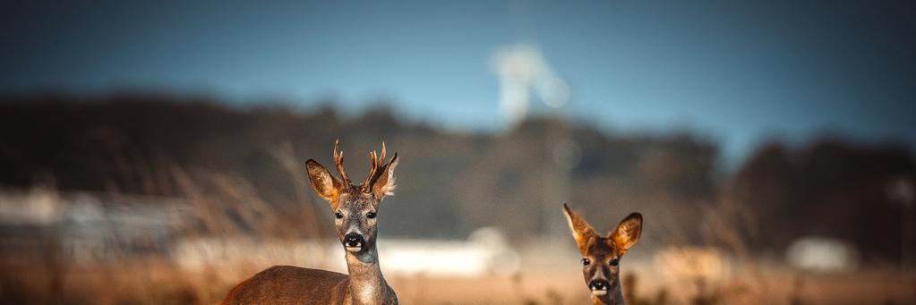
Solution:
{"label": "blurred pale building at the far left edge, below dark trees", "polygon": [[[60,250],[59,259],[74,263],[123,255],[169,256],[176,232],[191,225],[188,204],[175,198],[113,198],[39,188],[0,196],[5,258],[28,260],[53,249]],[[53,244],[38,243],[42,240]]]}

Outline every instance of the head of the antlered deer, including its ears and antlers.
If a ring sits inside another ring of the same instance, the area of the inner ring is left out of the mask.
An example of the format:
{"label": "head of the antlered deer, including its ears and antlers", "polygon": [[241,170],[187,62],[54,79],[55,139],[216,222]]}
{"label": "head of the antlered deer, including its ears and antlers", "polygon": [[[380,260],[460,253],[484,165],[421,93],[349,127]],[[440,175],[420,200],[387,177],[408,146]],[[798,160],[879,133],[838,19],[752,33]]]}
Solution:
{"label": "head of the antlered deer, including its ears and antlers", "polygon": [[381,156],[375,151],[369,153],[372,167],[361,184],[353,184],[344,171],[344,152],[334,142],[334,165],[340,178],[334,177],[313,159],[305,162],[309,180],[315,192],[331,203],[334,212],[334,227],[337,237],[347,252],[354,255],[375,248],[377,231],[376,217],[378,204],[395,189],[394,170],[398,166],[398,154],[385,163],[385,143],[382,142]]}

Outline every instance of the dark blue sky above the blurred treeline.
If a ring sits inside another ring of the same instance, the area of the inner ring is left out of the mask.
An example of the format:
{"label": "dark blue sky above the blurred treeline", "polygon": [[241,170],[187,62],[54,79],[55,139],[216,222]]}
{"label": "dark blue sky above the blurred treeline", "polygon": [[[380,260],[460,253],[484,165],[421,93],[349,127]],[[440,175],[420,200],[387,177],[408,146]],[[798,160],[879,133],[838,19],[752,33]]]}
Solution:
{"label": "dark blue sky above the blurred treeline", "polygon": [[[495,131],[493,52],[540,48],[564,111],[610,131],[687,127],[736,162],[832,133],[916,147],[906,2],[98,2],[0,5],[0,93],[134,89],[304,107],[379,99]],[[536,106],[535,111],[546,107]]]}

